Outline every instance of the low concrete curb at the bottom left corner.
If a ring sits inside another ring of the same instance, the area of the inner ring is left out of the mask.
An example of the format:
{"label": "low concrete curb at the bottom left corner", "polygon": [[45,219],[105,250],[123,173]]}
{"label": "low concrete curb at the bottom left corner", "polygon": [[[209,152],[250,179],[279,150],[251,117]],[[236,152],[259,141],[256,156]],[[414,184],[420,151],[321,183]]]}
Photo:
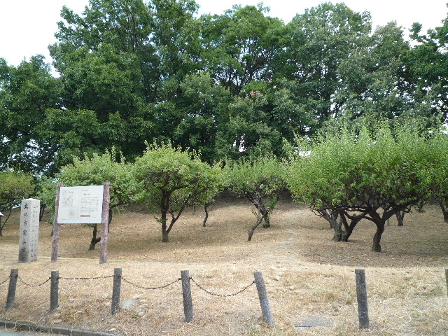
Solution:
{"label": "low concrete curb at the bottom left corner", "polygon": [[0,326],[20,331],[48,332],[52,334],[62,334],[69,336],[117,336],[116,334],[108,334],[106,332],[97,332],[97,331],[62,328],[62,327],[50,327],[48,325],[39,325],[35,323],[20,322],[20,321],[0,320]]}

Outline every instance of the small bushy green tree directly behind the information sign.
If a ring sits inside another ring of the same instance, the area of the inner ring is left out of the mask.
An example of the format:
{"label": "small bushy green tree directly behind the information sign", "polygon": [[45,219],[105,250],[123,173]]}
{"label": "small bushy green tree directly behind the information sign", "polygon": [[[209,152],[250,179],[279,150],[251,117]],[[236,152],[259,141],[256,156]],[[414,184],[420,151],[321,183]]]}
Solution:
{"label": "small bushy green tree directly behind the information sign", "polygon": [[[109,224],[112,221],[113,209],[119,209],[132,203],[137,194],[137,184],[132,175],[130,164],[125,158],[116,153],[115,148],[103,155],[94,153],[91,157],[85,155],[83,159],[74,158],[73,164],[65,165],[56,174],[55,179],[42,181],[42,199],[49,209],[55,211],[56,183],[62,183],[66,187],[73,186],[101,186],[104,181],[109,181],[110,204]],[[92,241],[89,249],[101,240],[97,237],[97,224],[93,225]]]}

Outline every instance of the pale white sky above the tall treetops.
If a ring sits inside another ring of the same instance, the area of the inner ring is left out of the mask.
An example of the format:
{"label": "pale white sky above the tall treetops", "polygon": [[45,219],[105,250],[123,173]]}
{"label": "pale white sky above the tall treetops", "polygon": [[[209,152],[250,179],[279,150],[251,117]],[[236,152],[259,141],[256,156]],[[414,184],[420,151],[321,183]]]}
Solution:
{"label": "pale white sky above the tall treetops", "polygon": [[[330,1],[330,0],[327,0]],[[318,6],[325,0],[196,0],[200,5],[199,14],[222,14],[234,4],[256,5],[263,2],[271,8],[269,16],[281,18],[288,23],[306,8]],[[46,62],[51,62],[48,45],[55,42],[57,22],[61,20],[60,10],[66,5],[75,13],[81,13],[88,0],[0,0],[0,57],[8,64],[18,66],[23,59],[43,54]],[[372,15],[373,27],[396,21],[404,29],[412,22],[420,22],[423,31],[442,25],[447,18],[448,0],[331,0],[332,3],[344,2],[349,8]],[[405,37],[408,32],[405,30]]]}

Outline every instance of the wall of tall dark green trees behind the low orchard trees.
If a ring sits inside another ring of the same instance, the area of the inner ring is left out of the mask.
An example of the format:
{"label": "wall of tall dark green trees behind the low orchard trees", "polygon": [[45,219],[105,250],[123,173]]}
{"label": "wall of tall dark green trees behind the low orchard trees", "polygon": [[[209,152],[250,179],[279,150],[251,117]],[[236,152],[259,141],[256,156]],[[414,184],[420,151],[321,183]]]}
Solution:
{"label": "wall of tall dark green trees behind the low orchard trees", "polygon": [[[370,13],[321,3],[285,23],[269,8],[197,15],[194,0],[90,0],[64,6],[50,45],[0,60],[1,169],[54,176],[114,146],[133,162],[147,141],[205,162],[274,153],[334,120],[447,120],[447,19],[411,41]],[[437,27],[438,25],[438,27]],[[412,42],[412,43],[411,43]]]}

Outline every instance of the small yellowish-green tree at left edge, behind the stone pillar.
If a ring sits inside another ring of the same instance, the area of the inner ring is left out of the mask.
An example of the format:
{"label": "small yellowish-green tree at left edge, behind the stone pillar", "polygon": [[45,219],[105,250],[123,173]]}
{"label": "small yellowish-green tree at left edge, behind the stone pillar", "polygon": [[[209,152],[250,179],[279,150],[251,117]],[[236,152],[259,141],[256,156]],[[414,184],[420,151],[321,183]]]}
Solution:
{"label": "small yellowish-green tree at left edge, behind the stone pillar", "polygon": [[3,236],[3,227],[8,221],[11,211],[20,205],[20,202],[30,197],[34,192],[34,179],[30,174],[16,172],[0,172],[0,209],[6,214],[3,224],[0,224],[0,237]]}

